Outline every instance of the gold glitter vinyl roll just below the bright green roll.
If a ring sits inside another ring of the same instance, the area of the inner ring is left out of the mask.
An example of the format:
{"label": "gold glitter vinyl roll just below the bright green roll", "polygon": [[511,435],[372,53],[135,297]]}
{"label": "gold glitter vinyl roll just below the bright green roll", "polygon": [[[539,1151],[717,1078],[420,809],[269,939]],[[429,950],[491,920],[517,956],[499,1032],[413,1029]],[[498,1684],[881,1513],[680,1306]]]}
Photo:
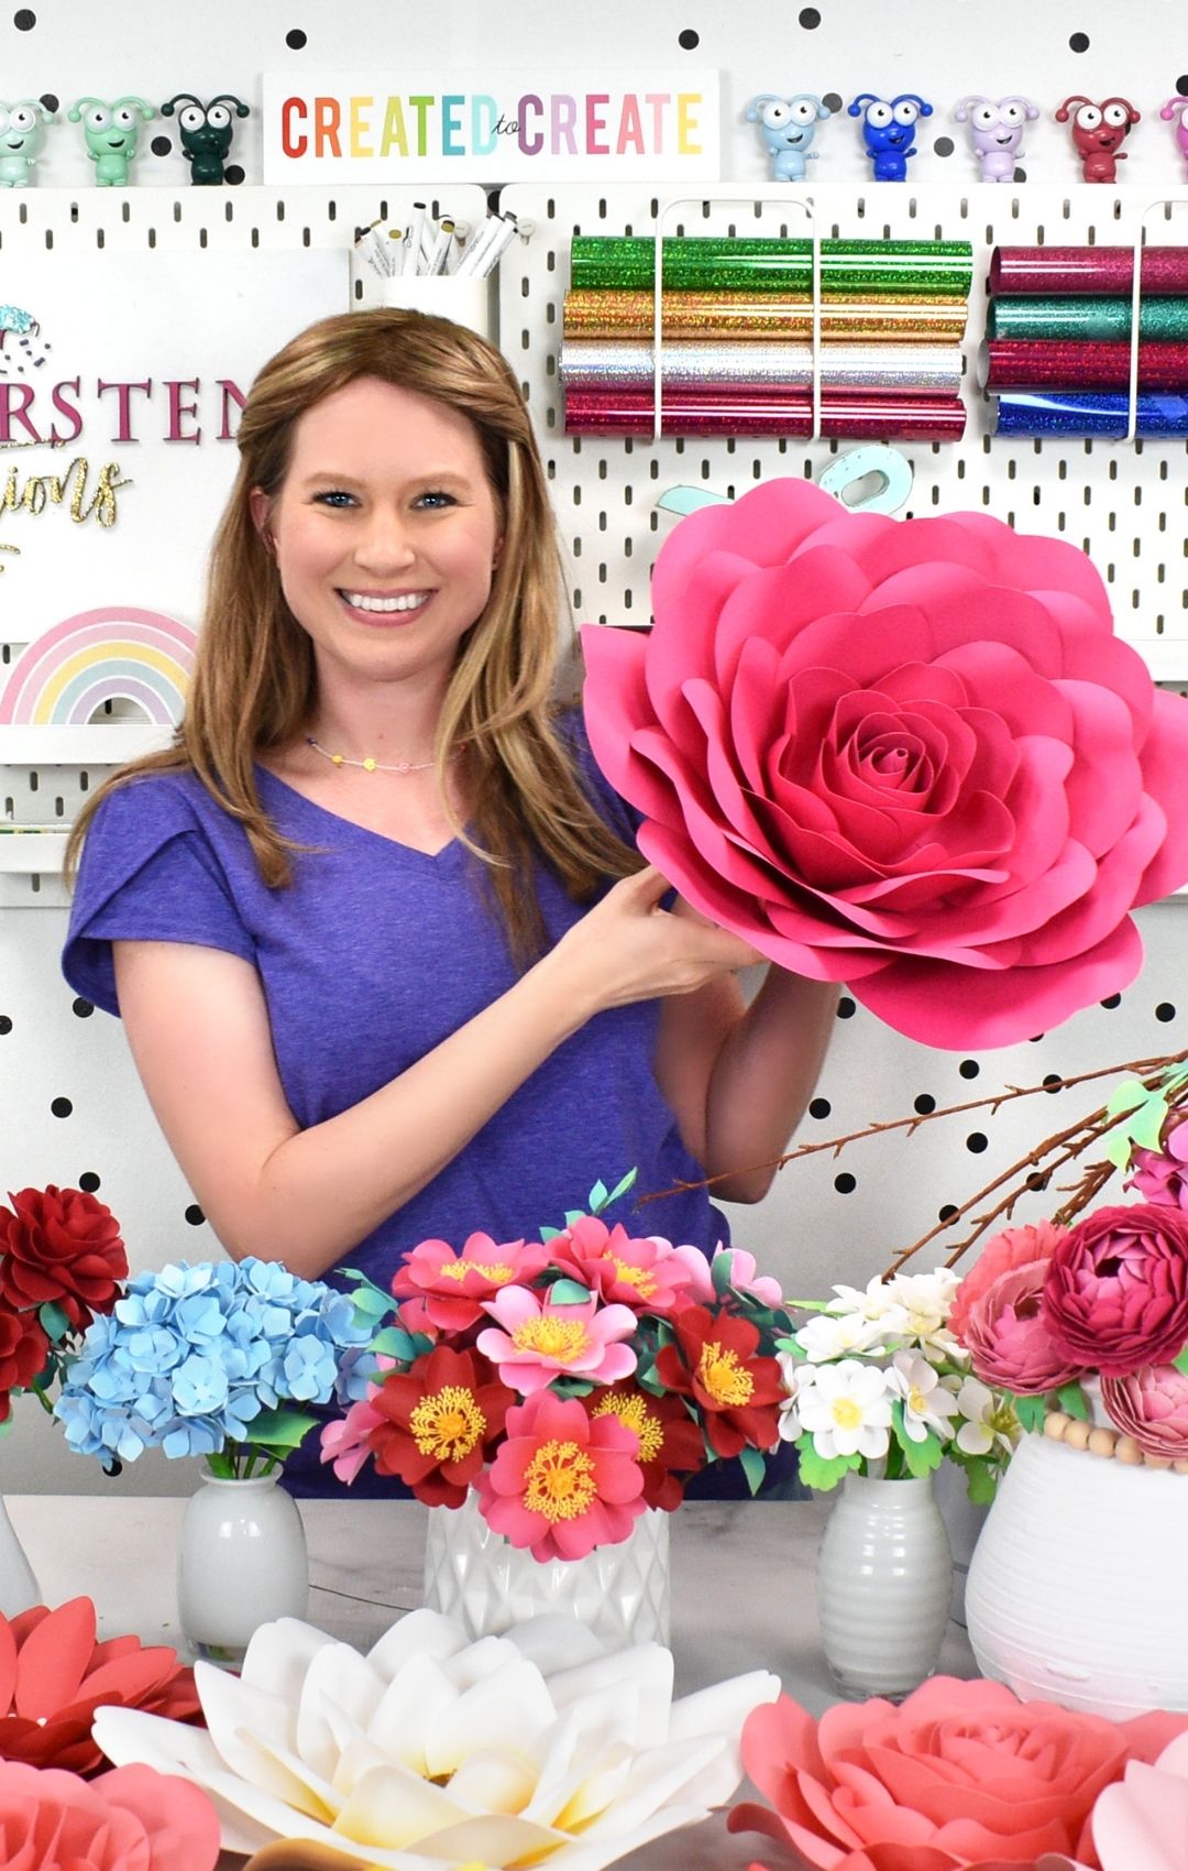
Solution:
{"label": "gold glitter vinyl roll just below the bright green roll", "polygon": [[[962,297],[883,299],[825,294],[821,339],[864,344],[960,344],[967,307]],[[567,292],[561,307],[567,339],[647,339],[655,329],[651,292]],[[668,339],[812,339],[812,299],[801,294],[664,292],[660,329]]]}

